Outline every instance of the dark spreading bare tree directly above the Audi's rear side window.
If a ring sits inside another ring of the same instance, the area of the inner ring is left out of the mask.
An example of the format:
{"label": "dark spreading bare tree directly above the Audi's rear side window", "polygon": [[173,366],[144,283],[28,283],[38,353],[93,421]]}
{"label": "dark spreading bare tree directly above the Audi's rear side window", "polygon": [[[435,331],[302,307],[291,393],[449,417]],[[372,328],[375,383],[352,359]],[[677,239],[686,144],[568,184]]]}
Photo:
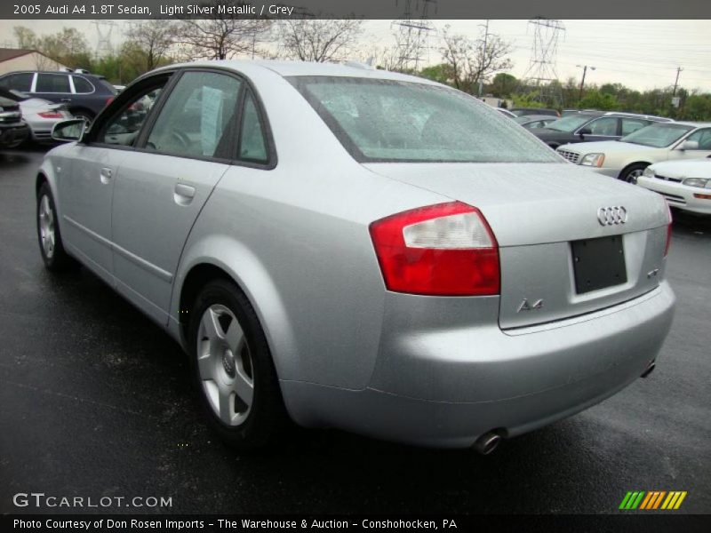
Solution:
{"label": "dark spreading bare tree directly above the Audi's rear side window", "polygon": [[[182,46],[188,60],[227,60],[241,53],[256,52],[256,44],[270,27],[270,20],[248,19],[235,8],[237,0],[209,0],[200,5],[213,9],[207,18],[181,20],[174,42]],[[220,9],[221,8],[221,9]]]}

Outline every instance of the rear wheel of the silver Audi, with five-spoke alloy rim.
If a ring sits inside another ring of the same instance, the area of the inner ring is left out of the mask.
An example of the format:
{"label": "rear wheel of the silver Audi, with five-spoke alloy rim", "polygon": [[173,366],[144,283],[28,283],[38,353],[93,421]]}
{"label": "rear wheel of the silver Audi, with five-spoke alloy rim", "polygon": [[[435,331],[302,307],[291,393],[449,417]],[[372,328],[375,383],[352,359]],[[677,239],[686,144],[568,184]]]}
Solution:
{"label": "rear wheel of the silver Audi, with five-spoke alloy rim", "polygon": [[234,283],[205,285],[190,314],[193,374],[208,422],[239,449],[274,440],[287,419],[267,338]]}

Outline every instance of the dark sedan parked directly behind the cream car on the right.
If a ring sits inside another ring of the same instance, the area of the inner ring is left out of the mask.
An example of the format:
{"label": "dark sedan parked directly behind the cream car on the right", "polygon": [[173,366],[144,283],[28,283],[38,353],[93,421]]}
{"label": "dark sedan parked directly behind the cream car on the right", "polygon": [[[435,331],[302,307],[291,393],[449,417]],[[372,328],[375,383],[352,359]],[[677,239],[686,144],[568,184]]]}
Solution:
{"label": "dark sedan parked directly behind the cream car on the right", "polygon": [[670,118],[610,111],[581,111],[563,116],[545,128],[531,133],[549,147],[557,148],[574,142],[616,140],[654,122],[673,122]]}

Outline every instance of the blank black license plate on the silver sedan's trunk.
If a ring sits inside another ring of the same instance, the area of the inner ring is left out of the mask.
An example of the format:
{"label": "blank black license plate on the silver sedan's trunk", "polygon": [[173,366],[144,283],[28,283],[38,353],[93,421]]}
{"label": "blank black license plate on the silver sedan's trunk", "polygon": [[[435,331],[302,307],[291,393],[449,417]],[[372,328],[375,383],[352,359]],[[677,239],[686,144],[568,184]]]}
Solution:
{"label": "blank black license plate on the silver sedan's trunk", "polygon": [[572,241],[571,248],[578,294],[627,282],[622,235]]}

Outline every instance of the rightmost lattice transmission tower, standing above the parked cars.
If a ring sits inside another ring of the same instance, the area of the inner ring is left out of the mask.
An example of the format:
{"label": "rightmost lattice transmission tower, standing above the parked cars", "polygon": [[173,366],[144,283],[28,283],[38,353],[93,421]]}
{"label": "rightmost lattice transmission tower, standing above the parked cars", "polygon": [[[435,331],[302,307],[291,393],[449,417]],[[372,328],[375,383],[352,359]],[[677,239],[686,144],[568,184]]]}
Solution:
{"label": "rightmost lattice transmission tower, standing above the parked cars", "polygon": [[558,38],[565,31],[560,20],[537,17],[528,21],[533,27],[531,61],[522,78],[522,84],[535,87],[535,99],[553,107],[563,104],[563,91],[555,70]]}

